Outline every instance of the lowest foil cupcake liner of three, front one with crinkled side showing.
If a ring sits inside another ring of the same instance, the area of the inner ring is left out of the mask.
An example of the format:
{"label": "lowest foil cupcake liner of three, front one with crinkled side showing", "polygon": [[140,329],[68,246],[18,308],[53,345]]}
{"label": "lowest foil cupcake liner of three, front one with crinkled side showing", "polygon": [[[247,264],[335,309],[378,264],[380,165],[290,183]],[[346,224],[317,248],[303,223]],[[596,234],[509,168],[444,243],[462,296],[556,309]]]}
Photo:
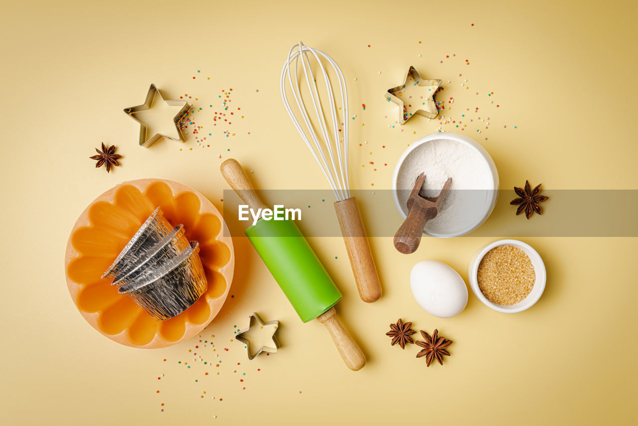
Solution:
{"label": "lowest foil cupcake liner of three, front one with crinkled side showing", "polygon": [[192,250],[184,252],[172,268],[151,282],[138,281],[122,285],[119,294],[132,298],[154,319],[164,321],[188,309],[208,288],[199,244],[191,241]]}

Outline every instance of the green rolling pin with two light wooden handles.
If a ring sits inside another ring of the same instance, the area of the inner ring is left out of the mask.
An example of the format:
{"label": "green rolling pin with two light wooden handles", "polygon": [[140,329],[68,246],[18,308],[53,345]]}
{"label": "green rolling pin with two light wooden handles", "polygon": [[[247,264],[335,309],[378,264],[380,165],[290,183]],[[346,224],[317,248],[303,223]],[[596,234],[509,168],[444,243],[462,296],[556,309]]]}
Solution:
{"label": "green rolling pin with two light wooden handles", "polygon": [[[221,164],[228,185],[252,209],[266,206],[234,158]],[[360,370],[366,357],[336,316],[341,293],[293,220],[263,220],[246,229],[246,236],[262,257],[272,277],[304,323],[317,319],[326,326],[341,358],[350,370]]]}

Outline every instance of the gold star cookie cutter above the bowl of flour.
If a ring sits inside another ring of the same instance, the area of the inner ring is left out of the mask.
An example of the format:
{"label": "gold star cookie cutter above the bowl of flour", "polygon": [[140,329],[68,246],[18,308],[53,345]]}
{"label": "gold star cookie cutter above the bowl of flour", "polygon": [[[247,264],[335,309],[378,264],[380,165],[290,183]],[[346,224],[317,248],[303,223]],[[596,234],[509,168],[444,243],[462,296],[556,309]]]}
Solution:
{"label": "gold star cookie cutter above the bowl of flour", "polygon": [[[434,95],[436,95],[438,88],[441,87],[443,80],[424,80],[419,75],[419,72],[417,72],[413,66],[410,66],[410,69],[406,73],[403,81],[404,82],[401,86],[392,87],[392,89],[388,89],[385,93],[385,98],[388,102],[392,101],[399,105],[399,124],[403,125],[415,114],[419,114],[420,116],[430,119],[436,118],[436,116],[438,116],[438,108],[436,107],[436,102],[434,102]],[[421,96],[423,99],[422,107],[413,114],[408,114],[408,109],[405,106],[403,99],[401,99],[401,95],[404,91],[406,91],[408,84],[423,87],[423,89],[420,90],[424,92],[424,95]]]}

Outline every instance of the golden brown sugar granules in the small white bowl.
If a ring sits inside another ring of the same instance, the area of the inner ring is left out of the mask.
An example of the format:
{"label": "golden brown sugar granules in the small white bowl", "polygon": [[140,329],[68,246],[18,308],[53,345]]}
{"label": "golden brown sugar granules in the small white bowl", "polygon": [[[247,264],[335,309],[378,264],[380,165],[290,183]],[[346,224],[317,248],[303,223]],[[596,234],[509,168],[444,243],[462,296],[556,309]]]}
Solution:
{"label": "golden brown sugar granules in the small white bowl", "polygon": [[481,259],[477,280],[487,300],[498,305],[514,305],[530,294],[536,273],[523,250],[500,245]]}

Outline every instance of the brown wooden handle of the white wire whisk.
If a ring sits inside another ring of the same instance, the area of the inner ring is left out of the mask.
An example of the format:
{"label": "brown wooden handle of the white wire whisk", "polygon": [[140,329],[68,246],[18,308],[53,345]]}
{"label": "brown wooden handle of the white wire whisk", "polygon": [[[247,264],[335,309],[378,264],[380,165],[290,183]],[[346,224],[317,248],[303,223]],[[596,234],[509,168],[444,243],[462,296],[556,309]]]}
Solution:
{"label": "brown wooden handle of the white wire whisk", "polygon": [[339,227],[350,258],[350,266],[355,276],[361,300],[371,303],[381,297],[381,282],[376,272],[375,259],[367,241],[366,229],[361,220],[361,213],[355,197],[336,201]]}

